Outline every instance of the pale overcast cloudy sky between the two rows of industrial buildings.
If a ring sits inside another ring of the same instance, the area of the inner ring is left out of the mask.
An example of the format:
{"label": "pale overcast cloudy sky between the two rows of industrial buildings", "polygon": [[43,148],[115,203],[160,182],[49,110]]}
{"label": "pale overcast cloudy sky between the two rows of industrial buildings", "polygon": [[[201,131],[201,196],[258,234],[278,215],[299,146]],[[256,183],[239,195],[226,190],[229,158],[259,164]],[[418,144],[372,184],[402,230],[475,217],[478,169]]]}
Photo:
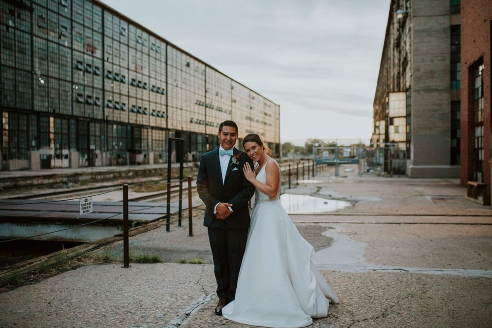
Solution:
{"label": "pale overcast cloudy sky between the two rows of industrial buildings", "polygon": [[390,0],[102,0],[280,105],[281,142],[362,139]]}

